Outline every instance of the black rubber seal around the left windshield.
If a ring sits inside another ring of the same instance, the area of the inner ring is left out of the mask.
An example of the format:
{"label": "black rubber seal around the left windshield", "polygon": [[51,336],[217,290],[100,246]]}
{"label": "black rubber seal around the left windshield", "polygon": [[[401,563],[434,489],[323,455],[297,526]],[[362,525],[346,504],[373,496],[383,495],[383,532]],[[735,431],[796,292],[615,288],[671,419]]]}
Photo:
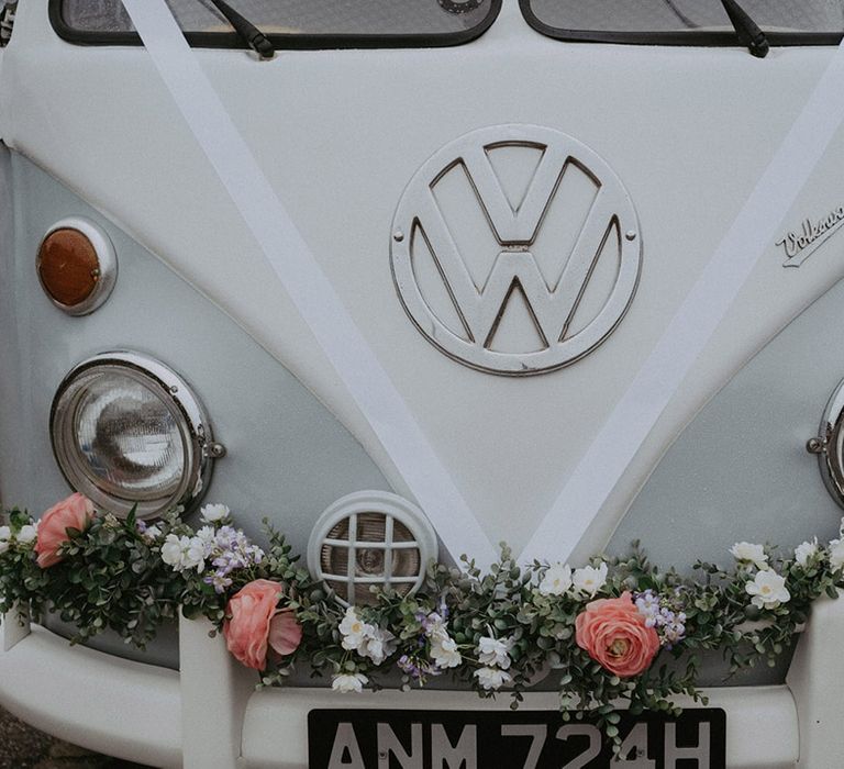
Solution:
{"label": "black rubber seal around the left windshield", "polygon": [[[49,21],[56,34],[75,45],[120,46],[143,45],[136,32],[99,32],[70,26],[62,14],[64,0],[49,0]],[[360,34],[267,34],[267,40],[280,51],[327,51],[334,48],[441,48],[464,45],[480,37],[498,19],[502,0],[490,0],[482,22],[469,30],[445,33],[412,33],[395,35]],[[185,32],[188,44],[195,48],[246,49],[235,32]]]}

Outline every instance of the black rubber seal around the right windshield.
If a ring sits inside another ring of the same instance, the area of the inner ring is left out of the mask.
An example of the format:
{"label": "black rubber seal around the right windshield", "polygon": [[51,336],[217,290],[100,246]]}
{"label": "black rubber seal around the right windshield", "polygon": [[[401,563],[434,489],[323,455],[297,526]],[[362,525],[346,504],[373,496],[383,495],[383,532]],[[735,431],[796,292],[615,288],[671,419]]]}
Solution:
{"label": "black rubber seal around the right windshield", "polygon": [[[615,43],[620,45],[675,45],[703,47],[746,47],[735,32],[617,32],[611,30],[564,30],[542,21],[532,8],[532,0],[519,0],[519,8],[528,24],[540,34],[569,43]],[[842,32],[768,32],[765,37],[771,46],[839,45]]]}

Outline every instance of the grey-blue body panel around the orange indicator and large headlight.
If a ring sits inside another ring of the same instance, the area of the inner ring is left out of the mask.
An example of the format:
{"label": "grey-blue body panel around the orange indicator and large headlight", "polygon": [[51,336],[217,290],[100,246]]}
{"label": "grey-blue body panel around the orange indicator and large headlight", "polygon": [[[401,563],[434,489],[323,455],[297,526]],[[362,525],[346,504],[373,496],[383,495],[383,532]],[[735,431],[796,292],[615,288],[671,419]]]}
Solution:
{"label": "grey-blue body panel around the orange indicator and large headlight", "polygon": [[[227,456],[216,461],[208,499],[226,500],[238,525],[258,539],[266,516],[304,553],[313,523],[334,500],[360,489],[389,490],[354,437],[225,314],[55,179],[25,158],[8,155],[2,178],[13,176],[16,226],[13,238],[11,229],[0,230],[4,504],[37,515],[68,493],[49,443],[53,397],[76,364],[115,347],[143,350],[195,386],[215,436],[227,436]],[[82,317],[56,308],[35,271],[43,233],[71,213],[108,232],[121,259],[109,302]],[[71,632],[57,621],[51,626]],[[171,632],[146,654],[108,635],[92,646],[177,665]]]}

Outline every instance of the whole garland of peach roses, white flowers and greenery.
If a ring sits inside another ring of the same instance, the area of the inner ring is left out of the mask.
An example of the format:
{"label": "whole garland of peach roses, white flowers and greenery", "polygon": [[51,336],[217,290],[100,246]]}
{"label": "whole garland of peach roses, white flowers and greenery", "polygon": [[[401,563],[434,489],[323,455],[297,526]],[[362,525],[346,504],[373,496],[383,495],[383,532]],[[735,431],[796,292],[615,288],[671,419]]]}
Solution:
{"label": "whole garland of peach roses, white flowers and greenery", "polygon": [[181,608],[213,622],[265,686],[307,665],[336,691],[357,692],[398,669],[404,690],[447,673],[481,696],[507,688],[515,707],[551,670],[563,717],[590,712],[617,746],[619,703],[636,714],[677,713],[677,694],[704,702],[702,650],[720,649],[731,673],[774,665],[812,602],[844,588],[844,535],[788,557],[737,543],[730,571],[699,561],[696,579],[660,570],[637,544],[581,568],[520,567],[502,545],[489,573],[465,557],[459,568],[432,562],[412,595],[374,589],[368,605],[343,606],[297,566],[281,534],[267,524],[263,550],[225,505],[204,506],[197,531],[177,513],[152,526],[101,514],[81,494],[37,522],[20,510],[5,519],[0,612],[55,612],[76,625],[74,642],[109,628],[143,648]]}

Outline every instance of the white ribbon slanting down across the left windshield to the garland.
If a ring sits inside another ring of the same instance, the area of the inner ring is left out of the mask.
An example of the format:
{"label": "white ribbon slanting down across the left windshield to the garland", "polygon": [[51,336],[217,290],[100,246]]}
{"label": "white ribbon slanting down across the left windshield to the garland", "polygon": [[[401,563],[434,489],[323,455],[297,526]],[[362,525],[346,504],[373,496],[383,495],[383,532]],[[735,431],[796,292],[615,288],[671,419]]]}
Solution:
{"label": "white ribbon slanting down across the left windshield to the garland", "polygon": [[[453,557],[496,553],[291,221],[164,0],[123,0],[152,60],[287,294]],[[258,65],[256,65],[258,66]],[[267,66],[267,65],[262,65]]]}

